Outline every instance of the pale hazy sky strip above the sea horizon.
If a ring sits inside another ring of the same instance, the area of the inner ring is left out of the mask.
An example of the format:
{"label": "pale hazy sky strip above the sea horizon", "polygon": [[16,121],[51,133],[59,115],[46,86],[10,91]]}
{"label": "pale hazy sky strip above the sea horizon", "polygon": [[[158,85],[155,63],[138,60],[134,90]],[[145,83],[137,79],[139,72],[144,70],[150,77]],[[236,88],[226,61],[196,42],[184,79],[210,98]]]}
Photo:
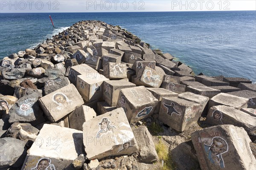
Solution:
{"label": "pale hazy sky strip above the sea horizon", "polygon": [[0,0],[0,12],[256,10],[256,0]]}

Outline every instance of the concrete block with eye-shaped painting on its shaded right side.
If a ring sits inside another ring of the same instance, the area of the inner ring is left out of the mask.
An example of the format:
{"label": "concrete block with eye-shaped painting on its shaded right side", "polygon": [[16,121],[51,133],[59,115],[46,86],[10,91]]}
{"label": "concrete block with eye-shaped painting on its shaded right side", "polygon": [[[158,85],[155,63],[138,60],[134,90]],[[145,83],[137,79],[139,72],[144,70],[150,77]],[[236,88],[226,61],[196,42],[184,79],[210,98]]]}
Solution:
{"label": "concrete block with eye-shaped painting on its shaded right side", "polygon": [[117,108],[123,108],[129,122],[137,122],[150,116],[158,100],[144,86],[120,90]]}

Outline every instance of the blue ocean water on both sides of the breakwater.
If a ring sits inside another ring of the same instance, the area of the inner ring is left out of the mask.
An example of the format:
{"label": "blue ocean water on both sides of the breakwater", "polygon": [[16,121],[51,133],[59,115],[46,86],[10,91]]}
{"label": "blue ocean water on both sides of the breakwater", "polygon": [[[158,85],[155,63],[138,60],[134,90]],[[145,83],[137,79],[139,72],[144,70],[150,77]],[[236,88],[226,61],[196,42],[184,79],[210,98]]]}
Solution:
{"label": "blue ocean water on both sides of the breakwater", "polygon": [[256,11],[0,13],[0,58],[33,48],[81,20],[119,25],[196,74],[256,82]]}

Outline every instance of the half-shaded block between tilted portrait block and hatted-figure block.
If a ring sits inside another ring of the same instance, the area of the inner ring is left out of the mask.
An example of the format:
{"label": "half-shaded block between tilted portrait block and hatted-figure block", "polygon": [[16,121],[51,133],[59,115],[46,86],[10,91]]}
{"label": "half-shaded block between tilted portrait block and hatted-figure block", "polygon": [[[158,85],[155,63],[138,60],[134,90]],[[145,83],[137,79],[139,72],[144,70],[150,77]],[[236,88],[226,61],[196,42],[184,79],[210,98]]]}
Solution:
{"label": "half-shaded block between tilted portrait block and hatted-figure block", "polygon": [[84,122],[96,117],[96,112],[89,106],[81,105],[68,115],[71,129],[83,130]]}

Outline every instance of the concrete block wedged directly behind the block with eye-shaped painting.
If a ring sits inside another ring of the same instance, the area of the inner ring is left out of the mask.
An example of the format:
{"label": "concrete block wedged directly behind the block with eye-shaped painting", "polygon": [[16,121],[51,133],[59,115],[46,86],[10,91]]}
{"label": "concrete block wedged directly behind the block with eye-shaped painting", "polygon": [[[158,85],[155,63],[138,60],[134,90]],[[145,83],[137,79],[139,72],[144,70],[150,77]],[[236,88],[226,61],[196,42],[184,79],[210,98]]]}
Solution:
{"label": "concrete block wedged directly behind the block with eye-shaped painting", "polygon": [[110,105],[116,106],[119,92],[123,88],[134,88],[135,84],[124,80],[105,81],[103,85],[103,99]]}

